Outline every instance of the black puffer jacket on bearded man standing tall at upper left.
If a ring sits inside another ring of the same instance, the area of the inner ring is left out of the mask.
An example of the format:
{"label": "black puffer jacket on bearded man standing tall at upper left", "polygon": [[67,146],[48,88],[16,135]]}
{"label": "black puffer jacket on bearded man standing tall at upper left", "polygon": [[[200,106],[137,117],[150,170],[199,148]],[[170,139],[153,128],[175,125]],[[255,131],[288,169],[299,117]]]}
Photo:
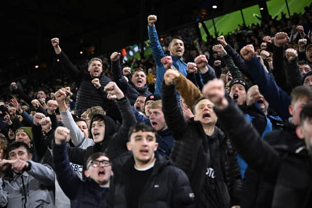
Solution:
{"label": "black puffer jacket on bearded man standing tall at upper left", "polygon": [[112,80],[102,74],[99,77],[101,87],[96,89],[91,83],[93,78],[90,76],[87,70],[79,71],[63,51],[59,54],[59,59],[66,71],[70,73],[70,76],[74,78],[76,84],[79,86],[76,98],[75,115],[81,115],[83,111],[91,108],[92,106],[102,106],[106,109],[103,104],[103,97],[106,97],[106,93],[103,91],[103,87]]}

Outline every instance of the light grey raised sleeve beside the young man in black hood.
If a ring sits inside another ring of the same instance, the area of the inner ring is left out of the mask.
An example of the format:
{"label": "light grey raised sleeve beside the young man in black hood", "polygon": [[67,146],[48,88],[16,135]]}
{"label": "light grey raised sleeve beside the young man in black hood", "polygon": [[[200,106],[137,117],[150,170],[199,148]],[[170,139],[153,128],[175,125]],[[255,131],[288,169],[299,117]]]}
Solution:
{"label": "light grey raised sleeve beside the young man in black hood", "polygon": [[64,127],[68,128],[70,130],[70,138],[72,140],[72,143],[76,147],[80,147],[82,149],[86,149],[89,146],[94,145],[93,139],[87,138],[83,132],[79,129],[77,124],[74,121],[74,118],[70,111],[66,109],[64,112],[60,112],[60,116],[62,118]]}

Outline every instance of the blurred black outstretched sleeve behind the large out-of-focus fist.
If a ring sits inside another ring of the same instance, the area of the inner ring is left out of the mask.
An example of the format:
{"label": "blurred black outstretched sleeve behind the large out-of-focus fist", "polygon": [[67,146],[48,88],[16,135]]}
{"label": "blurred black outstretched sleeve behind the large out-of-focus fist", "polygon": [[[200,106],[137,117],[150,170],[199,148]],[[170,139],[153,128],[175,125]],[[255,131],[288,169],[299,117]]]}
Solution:
{"label": "blurred black outstretched sleeve behind the large out-of-focus fist", "polygon": [[277,151],[266,141],[245,118],[243,112],[233,100],[229,99],[229,106],[223,110],[215,109],[223,131],[230,139],[242,158],[251,168],[263,175],[268,182],[276,180],[281,159]]}

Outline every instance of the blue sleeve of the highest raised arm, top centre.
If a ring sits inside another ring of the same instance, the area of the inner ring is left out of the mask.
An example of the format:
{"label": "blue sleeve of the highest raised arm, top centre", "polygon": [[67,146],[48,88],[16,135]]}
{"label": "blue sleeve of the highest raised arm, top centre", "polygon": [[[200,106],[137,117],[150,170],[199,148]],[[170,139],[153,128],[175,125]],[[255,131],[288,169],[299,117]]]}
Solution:
{"label": "blue sleeve of the highest raised arm, top centre", "polygon": [[151,26],[147,26],[148,29],[148,38],[150,39],[150,47],[152,49],[152,54],[155,59],[156,64],[160,64],[160,59],[165,57],[165,53],[162,50],[162,47],[159,43],[158,35],[156,32],[155,24]]}

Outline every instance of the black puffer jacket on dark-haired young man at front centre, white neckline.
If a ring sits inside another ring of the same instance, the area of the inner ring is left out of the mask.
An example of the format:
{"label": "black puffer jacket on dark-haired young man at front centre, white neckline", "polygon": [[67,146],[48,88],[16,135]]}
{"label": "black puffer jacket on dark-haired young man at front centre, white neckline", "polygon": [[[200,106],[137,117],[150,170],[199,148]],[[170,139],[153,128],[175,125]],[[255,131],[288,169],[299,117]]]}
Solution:
{"label": "black puffer jacket on dark-haired young man at front centre, white neckline", "polygon": [[[194,194],[185,173],[155,152],[155,166],[140,194],[138,208],[195,208]],[[127,208],[125,188],[129,170],[134,167],[132,152],[113,160],[114,178],[110,184],[109,208]]]}

